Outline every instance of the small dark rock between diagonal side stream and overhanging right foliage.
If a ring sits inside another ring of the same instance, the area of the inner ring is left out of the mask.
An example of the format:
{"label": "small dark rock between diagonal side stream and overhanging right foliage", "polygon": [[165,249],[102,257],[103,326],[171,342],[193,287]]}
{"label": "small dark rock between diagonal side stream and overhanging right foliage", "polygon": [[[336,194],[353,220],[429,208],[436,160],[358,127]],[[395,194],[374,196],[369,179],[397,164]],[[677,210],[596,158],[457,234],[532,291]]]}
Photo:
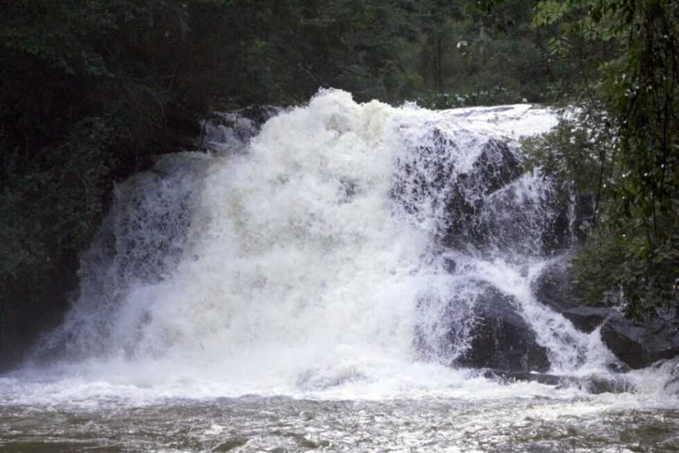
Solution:
{"label": "small dark rock between diagonal side stream and overhanging right foliage", "polygon": [[582,304],[568,270],[570,258],[569,255],[557,258],[544,268],[533,283],[533,293],[538,302],[558,313]]}

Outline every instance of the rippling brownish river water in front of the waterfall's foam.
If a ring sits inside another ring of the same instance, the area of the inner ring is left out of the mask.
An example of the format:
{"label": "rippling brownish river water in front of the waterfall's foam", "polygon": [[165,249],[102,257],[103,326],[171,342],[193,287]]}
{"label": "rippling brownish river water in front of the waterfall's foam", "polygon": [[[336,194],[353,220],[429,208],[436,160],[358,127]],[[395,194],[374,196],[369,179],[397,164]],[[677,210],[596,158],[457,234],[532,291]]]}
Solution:
{"label": "rippling brownish river water in front of the waterfall's foam", "polygon": [[679,411],[631,395],[0,407],[3,452],[675,452]]}

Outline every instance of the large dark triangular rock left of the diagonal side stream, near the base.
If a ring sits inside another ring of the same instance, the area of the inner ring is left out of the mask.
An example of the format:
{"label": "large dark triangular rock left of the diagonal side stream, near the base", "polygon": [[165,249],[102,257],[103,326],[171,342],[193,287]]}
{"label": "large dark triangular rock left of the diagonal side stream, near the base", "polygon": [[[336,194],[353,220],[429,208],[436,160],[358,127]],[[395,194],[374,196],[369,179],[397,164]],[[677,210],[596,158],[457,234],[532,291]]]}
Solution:
{"label": "large dark triangular rock left of the diagonal side stream, near the base", "polygon": [[474,311],[470,348],[455,363],[516,372],[549,369],[546,349],[537,344],[535,331],[512,306],[511,297],[489,288],[477,300]]}

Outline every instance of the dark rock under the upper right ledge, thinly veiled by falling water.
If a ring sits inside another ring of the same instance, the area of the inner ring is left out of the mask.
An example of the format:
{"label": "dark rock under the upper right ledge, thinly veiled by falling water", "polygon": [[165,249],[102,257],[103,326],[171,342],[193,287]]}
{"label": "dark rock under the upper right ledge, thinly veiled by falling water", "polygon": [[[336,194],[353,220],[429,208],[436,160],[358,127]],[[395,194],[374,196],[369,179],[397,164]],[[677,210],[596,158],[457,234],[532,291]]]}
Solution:
{"label": "dark rock under the upper right ledge, thinly veiled by falling water", "polygon": [[494,254],[555,255],[572,242],[569,198],[522,178],[521,163],[503,142],[489,140],[469,172],[446,193],[442,245]]}

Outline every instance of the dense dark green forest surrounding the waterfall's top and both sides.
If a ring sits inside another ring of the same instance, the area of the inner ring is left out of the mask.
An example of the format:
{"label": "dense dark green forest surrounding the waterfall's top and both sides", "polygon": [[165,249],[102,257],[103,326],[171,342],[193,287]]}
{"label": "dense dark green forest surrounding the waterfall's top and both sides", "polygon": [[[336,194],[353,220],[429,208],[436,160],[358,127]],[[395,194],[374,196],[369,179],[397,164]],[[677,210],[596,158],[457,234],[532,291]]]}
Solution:
{"label": "dense dark green forest surrounding the waterfall's top and both sides", "polygon": [[528,165],[593,197],[592,304],[679,296],[672,0],[0,0],[0,366],[58,322],[115,183],[211,110],[319,88],[428,108],[564,112]]}

